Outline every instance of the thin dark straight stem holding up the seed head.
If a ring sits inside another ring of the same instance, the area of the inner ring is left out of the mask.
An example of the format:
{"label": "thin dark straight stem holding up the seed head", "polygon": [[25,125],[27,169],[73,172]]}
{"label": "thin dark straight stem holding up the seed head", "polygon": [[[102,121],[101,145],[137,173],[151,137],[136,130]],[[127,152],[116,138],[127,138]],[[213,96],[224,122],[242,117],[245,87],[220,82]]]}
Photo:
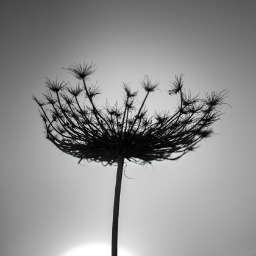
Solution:
{"label": "thin dark straight stem holding up the seed head", "polygon": [[113,223],[112,223],[112,256],[118,255],[118,216],[119,202],[121,193],[121,183],[123,176],[124,156],[118,156],[118,169],[116,172],[116,188],[113,208]]}

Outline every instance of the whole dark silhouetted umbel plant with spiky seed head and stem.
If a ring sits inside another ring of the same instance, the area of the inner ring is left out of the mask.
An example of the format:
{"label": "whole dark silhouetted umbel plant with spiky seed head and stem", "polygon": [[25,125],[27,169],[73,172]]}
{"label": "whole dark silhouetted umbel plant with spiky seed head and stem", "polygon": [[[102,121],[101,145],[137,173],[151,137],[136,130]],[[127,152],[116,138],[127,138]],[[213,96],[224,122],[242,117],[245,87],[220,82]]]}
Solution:
{"label": "whole dark silhouetted umbel plant with spiky seed head and stem", "polygon": [[[175,77],[169,95],[178,94],[179,101],[172,115],[169,111],[149,116],[145,102],[158,83],[148,76],[141,82],[146,96],[136,107],[138,91],[132,92],[123,84],[123,104],[108,104],[99,109],[93,98],[100,94],[99,87],[87,85],[88,77],[96,70],[90,65],[73,65],[66,68],[80,81],[76,87],[57,80],[46,80],[48,91],[44,101],[35,98],[43,119],[46,138],[66,154],[88,162],[104,165],[117,164],[115,198],[113,206],[112,256],[117,255],[118,215],[124,159],[143,165],[153,160],[177,160],[198,148],[199,141],[213,134],[210,126],[222,115],[219,110],[227,91],[191,96],[185,93],[182,76]],[[80,103],[82,98],[85,103]],[[46,108],[49,105],[51,108]]]}

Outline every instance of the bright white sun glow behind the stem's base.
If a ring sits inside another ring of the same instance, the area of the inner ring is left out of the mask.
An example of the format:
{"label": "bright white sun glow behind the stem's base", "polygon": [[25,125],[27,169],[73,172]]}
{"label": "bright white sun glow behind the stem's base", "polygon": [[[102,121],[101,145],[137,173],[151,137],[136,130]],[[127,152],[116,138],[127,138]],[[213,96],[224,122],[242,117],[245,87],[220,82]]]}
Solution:
{"label": "bright white sun glow behind the stem's base", "polygon": [[[108,244],[88,244],[66,252],[62,256],[111,256],[111,246]],[[118,256],[134,256],[122,248],[118,248]]]}

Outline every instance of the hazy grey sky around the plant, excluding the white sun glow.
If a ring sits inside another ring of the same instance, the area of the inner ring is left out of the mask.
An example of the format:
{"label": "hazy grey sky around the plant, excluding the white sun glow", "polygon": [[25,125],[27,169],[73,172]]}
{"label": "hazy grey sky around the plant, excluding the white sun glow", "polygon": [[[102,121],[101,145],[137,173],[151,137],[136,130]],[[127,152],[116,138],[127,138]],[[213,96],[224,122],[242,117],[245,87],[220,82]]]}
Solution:
{"label": "hazy grey sky around the plant, excluding the white sun glow", "polygon": [[[160,82],[149,110],[229,90],[218,133],[176,162],[127,165],[119,245],[134,256],[256,255],[256,1],[1,1],[0,255],[61,256],[111,243],[116,167],[77,165],[44,138],[34,93],[45,77],[93,61],[98,101],[121,103],[123,82]],[[98,104],[99,106],[101,104]],[[153,112],[151,112],[153,113]],[[154,168],[154,169],[153,169]]]}

